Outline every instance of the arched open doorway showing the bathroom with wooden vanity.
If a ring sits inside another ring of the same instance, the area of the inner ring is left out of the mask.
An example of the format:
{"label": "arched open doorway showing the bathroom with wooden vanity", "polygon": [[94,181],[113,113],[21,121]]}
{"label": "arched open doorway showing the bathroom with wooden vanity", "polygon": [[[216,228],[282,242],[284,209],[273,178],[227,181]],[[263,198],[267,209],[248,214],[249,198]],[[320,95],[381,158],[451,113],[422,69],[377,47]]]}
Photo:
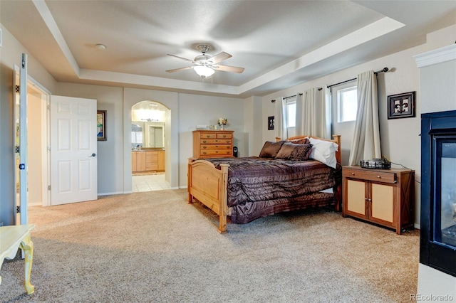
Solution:
{"label": "arched open doorway showing the bathroom with wooden vanity", "polygon": [[170,189],[165,169],[169,112],[167,107],[153,101],[141,101],[132,107],[133,192]]}

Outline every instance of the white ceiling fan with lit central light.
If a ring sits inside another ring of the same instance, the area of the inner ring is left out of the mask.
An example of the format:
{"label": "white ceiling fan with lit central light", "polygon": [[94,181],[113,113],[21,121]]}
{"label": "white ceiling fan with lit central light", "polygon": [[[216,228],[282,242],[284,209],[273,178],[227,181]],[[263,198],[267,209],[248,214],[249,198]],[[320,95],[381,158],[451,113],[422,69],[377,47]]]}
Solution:
{"label": "white ceiling fan with lit central light", "polygon": [[[187,66],[186,68],[175,68],[174,70],[166,70],[166,71],[168,73],[174,73],[174,72],[178,72],[180,70],[193,69],[202,78],[207,78],[207,77],[212,76],[215,73],[215,70],[223,70],[224,72],[232,72],[232,73],[242,73],[244,71],[244,68],[237,68],[234,66],[218,64],[219,62],[222,62],[223,60],[227,60],[228,58],[231,58],[232,55],[230,55],[229,53],[225,53],[224,51],[222,51],[222,53],[219,53],[219,54],[211,57],[210,55],[206,54],[207,51],[210,50],[209,46],[202,44],[202,45],[198,46],[198,49],[202,53],[202,55],[197,55],[194,60],[182,58],[182,57],[179,57],[178,55],[172,55],[172,57],[179,58],[179,59],[182,59],[185,61],[189,61],[195,65]],[[168,54],[168,55],[170,55],[170,54]]]}

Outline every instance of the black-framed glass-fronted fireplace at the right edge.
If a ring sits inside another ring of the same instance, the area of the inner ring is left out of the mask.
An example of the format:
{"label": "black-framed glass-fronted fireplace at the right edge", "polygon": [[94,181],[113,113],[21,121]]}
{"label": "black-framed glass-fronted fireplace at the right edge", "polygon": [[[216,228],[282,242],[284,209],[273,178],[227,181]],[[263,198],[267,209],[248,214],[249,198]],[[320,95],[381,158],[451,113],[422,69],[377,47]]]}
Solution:
{"label": "black-framed glass-fronted fireplace at the right edge", "polygon": [[420,262],[456,277],[456,110],[421,115]]}

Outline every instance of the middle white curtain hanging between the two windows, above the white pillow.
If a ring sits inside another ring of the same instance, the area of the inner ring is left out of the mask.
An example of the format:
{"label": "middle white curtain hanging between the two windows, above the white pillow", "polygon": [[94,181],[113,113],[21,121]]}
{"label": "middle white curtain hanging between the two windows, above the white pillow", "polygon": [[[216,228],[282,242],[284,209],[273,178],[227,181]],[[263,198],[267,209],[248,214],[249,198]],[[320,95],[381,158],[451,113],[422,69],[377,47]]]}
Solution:
{"label": "middle white curtain hanging between the two windows, above the white pillow", "polygon": [[329,88],[316,87],[296,97],[296,135],[331,139],[331,99]]}

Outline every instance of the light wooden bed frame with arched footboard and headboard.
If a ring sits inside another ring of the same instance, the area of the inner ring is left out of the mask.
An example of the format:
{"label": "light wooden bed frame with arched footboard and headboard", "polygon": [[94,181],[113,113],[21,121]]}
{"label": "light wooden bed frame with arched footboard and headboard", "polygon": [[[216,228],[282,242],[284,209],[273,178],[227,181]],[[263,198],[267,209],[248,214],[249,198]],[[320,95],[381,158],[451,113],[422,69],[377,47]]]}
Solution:
{"label": "light wooden bed frame with arched footboard and headboard", "polygon": [[[304,139],[311,136],[296,136],[286,139],[286,141]],[[314,139],[335,142],[338,144],[336,160],[341,164],[341,135],[333,135],[333,139]],[[279,141],[280,138],[276,138]],[[219,216],[219,233],[227,231],[227,185],[228,185],[228,164],[220,164],[217,169],[214,164],[203,159],[189,158],[188,160],[188,203],[193,203],[193,198],[203,203]],[[341,185],[336,188],[336,211],[341,209]]]}

